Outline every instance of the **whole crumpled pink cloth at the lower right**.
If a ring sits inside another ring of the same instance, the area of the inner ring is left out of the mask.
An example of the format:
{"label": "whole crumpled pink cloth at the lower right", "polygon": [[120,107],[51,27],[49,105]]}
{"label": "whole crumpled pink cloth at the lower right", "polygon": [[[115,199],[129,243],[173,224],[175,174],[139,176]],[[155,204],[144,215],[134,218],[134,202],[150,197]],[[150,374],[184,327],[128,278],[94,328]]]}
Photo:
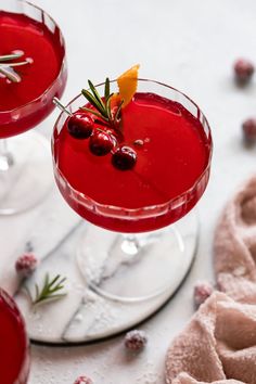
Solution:
{"label": "whole crumpled pink cloth at the lower right", "polygon": [[256,384],[256,177],[226,206],[214,241],[215,292],[171,343],[168,384]]}

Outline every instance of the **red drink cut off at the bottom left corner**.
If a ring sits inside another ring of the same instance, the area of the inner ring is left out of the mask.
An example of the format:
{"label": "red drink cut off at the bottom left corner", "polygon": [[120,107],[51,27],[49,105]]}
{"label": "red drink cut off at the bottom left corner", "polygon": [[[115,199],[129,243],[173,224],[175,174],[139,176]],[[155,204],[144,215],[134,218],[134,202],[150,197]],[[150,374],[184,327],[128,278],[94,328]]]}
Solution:
{"label": "red drink cut off at the bottom left corner", "polygon": [[14,302],[0,289],[0,382],[25,384],[28,345],[23,319]]}

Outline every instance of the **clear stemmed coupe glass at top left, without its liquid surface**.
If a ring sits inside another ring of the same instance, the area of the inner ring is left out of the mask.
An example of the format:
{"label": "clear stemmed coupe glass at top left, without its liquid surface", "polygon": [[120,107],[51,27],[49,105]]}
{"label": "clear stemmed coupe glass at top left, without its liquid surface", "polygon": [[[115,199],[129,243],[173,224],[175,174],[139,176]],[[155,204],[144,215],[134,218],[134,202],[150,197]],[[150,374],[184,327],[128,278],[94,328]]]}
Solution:
{"label": "clear stemmed coupe glass at top left, without its liquid surface", "polygon": [[[54,50],[61,63],[54,80],[39,97],[11,111],[0,111],[0,215],[12,215],[37,205],[51,188],[47,140],[35,132],[20,133],[34,128],[52,112],[52,98],[62,95],[67,71],[62,33],[44,11],[23,0],[0,0],[1,12],[25,15],[37,22],[38,27],[43,25],[54,37]],[[1,50],[0,41],[0,54],[10,53]]]}

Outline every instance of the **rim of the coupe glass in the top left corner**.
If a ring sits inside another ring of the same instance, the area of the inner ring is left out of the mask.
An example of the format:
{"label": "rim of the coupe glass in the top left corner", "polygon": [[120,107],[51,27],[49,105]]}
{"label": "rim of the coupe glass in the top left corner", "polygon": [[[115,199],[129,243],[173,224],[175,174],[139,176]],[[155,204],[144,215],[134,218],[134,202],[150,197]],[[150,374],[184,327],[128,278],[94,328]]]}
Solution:
{"label": "rim of the coupe glass in the top left corner", "polygon": [[[28,101],[27,103],[22,104],[20,106],[16,106],[15,108],[7,110],[7,111],[0,111],[0,116],[1,115],[2,116],[3,115],[10,115],[10,114],[13,114],[15,112],[21,112],[23,108],[26,108],[28,105],[33,105],[34,103],[36,104],[40,99],[42,99],[47,93],[49,93],[52,88],[54,88],[55,84],[59,81],[59,79],[62,77],[63,73],[65,72],[65,66],[66,66],[66,42],[65,42],[65,38],[64,38],[63,34],[62,34],[62,30],[61,30],[59,24],[55,22],[55,20],[47,11],[44,11],[42,8],[33,4],[30,1],[16,0],[16,2],[17,3],[23,3],[23,4],[28,4],[29,7],[41,11],[43,14],[46,14],[52,21],[54,26],[60,30],[60,37],[61,37],[62,42],[63,42],[62,47],[63,47],[64,54],[63,54],[63,57],[62,57],[62,64],[60,66],[60,71],[59,71],[57,75],[55,76],[54,80],[49,85],[49,87],[42,93],[40,93],[36,99],[33,99],[31,101]],[[0,9],[0,11],[1,11],[1,9]]]}

